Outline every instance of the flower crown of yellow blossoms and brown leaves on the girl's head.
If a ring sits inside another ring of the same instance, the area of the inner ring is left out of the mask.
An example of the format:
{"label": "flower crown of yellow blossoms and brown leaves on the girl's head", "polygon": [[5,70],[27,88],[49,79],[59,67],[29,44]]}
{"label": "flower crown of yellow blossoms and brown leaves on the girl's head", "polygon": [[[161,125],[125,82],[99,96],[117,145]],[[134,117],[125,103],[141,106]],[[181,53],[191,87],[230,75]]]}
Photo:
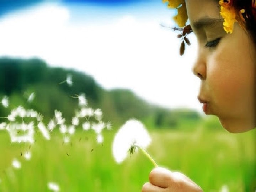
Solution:
{"label": "flower crown of yellow blossoms and brown leaves on the girl's head", "polygon": [[[235,0],[220,0],[220,15],[223,17],[223,28],[226,33],[232,33],[234,23],[236,21],[244,28],[245,20],[248,18],[245,9],[236,10],[234,5]],[[174,27],[174,30],[183,31],[182,35],[179,34],[177,37],[182,38],[181,46],[180,46],[180,55],[183,55],[185,51],[185,42],[187,45],[191,45],[190,41],[187,38],[187,35],[192,32],[192,28],[190,25],[186,25],[188,20],[187,8],[185,0],[162,0],[163,3],[168,2],[168,7],[172,9],[177,9],[178,14],[173,17],[174,21],[180,28]],[[252,0],[252,14],[256,19],[256,0]]]}

